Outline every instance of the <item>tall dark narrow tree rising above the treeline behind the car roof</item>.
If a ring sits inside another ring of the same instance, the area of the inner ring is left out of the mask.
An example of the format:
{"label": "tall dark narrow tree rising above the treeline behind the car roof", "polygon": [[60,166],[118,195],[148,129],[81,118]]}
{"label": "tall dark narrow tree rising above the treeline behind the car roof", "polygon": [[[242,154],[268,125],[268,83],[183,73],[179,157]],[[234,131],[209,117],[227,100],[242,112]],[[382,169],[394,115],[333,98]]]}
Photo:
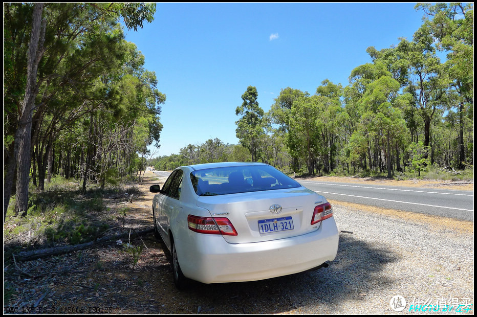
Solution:
{"label": "tall dark narrow tree rising above the treeline behind the car roof", "polygon": [[241,106],[235,109],[235,115],[242,116],[235,122],[237,128],[236,136],[240,143],[245,146],[251,154],[252,162],[257,161],[257,149],[260,136],[264,134],[264,110],[258,105],[257,88],[248,86],[242,95],[244,101]]}

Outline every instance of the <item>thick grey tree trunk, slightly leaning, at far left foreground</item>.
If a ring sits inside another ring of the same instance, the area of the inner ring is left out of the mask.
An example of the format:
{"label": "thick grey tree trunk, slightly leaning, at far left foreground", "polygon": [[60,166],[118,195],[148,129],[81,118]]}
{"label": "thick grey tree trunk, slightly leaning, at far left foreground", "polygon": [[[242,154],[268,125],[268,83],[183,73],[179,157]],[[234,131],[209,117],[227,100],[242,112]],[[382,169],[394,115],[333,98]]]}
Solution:
{"label": "thick grey tree trunk, slightly leaning, at far left foreground", "polygon": [[[38,93],[36,76],[38,71],[38,64],[42,56],[42,53],[40,52],[42,51],[43,46],[42,38],[44,38],[45,35],[45,22],[43,28],[41,28],[41,14],[43,12],[43,7],[44,3],[36,3],[33,9],[32,33],[28,49],[27,86],[25,91],[25,99],[21,109],[21,118],[19,121],[18,130],[15,133],[15,147],[18,144],[18,169],[15,193],[15,214],[21,212],[23,215],[26,215],[28,209],[28,184],[30,180],[32,116],[35,104],[35,97]],[[10,194],[11,190],[8,193],[8,199],[10,199]],[[6,213],[7,209],[5,208],[4,222]]]}

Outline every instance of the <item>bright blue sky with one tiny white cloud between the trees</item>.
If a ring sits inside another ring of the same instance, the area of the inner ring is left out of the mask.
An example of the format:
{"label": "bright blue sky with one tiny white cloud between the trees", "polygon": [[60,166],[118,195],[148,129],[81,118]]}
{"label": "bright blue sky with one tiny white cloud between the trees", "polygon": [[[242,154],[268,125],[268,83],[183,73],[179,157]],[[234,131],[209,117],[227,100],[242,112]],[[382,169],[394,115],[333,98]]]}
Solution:
{"label": "bright blue sky with one tiny white cloud between the trees", "polygon": [[422,24],[415,3],[158,3],[155,19],[125,30],[156,72],[162,105],[158,155],[210,138],[238,144],[235,108],[249,85],[270,109],[280,89],[310,94],[324,79],[348,85],[351,71],[411,40]]}

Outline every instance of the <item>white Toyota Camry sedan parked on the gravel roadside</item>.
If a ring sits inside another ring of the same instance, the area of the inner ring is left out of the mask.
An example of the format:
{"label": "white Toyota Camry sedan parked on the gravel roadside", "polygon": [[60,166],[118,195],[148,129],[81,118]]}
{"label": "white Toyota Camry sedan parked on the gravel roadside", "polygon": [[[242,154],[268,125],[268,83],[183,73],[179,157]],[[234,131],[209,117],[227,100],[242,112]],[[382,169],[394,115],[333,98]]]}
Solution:
{"label": "white Toyota Camry sedan parked on the gravel roadside", "polygon": [[326,267],[338,250],[330,203],[263,163],[182,166],[153,200],[154,232],[178,288],[256,281]]}

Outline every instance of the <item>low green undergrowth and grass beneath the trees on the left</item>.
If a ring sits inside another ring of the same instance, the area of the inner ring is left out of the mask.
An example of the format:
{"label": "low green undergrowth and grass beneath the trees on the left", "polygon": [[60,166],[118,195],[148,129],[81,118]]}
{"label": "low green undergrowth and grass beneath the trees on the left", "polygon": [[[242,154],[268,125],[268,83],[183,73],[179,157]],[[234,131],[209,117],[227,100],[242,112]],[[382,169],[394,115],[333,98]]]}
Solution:
{"label": "low green undergrowth and grass beneath the trees on the left", "polygon": [[77,183],[54,177],[44,191],[30,192],[26,215],[14,213],[12,197],[3,232],[6,260],[20,250],[90,242],[124,227],[128,203],[141,193],[135,184],[95,187],[82,194]]}

